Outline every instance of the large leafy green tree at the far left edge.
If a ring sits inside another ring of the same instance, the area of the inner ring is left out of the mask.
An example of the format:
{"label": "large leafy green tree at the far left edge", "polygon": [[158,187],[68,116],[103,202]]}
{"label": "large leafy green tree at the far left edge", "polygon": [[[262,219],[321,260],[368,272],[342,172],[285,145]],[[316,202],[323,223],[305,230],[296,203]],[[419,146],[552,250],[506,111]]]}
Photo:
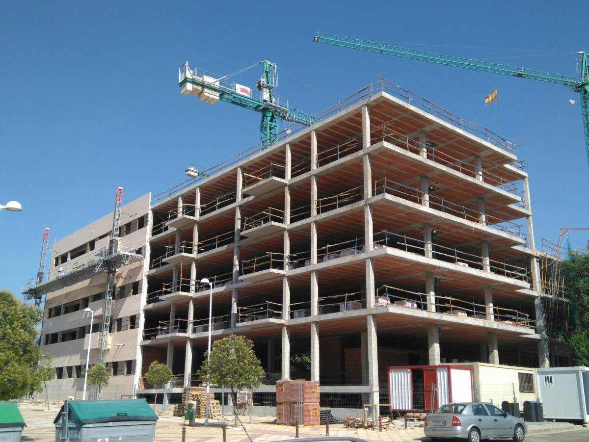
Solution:
{"label": "large leafy green tree at the far left edge", "polygon": [[32,367],[41,351],[35,344],[42,310],[24,304],[8,290],[0,290],[0,401],[29,393]]}

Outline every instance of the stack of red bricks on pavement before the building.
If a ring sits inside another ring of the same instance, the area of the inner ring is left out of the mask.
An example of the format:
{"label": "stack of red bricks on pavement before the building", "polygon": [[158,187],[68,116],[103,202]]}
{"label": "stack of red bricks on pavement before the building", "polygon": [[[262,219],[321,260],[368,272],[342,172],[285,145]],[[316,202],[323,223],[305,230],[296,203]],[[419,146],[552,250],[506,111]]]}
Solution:
{"label": "stack of red bricks on pavement before the building", "polygon": [[319,382],[284,379],[276,382],[276,423],[319,425]]}

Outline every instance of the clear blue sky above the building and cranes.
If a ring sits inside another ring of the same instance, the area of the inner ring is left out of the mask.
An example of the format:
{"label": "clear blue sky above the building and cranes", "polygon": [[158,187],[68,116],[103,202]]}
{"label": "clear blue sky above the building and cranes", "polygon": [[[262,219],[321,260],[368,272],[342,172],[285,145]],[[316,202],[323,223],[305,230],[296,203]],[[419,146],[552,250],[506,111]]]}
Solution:
{"label": "clear blue sky above the building and cranes", "polygon": [[[256,144],[259,115],[181,97],[184,61],[220,74],[264,58],[280,97],[315,113],[378,73],[471,121],[522,139],[537,244],[587,225],[578,97],[558,85],[312,42],[315,31],[575,75],[586,1],[1,2],[0,287],[37,272],[42,230],[62,238],[124,201]],[[549,54],[549,55],[547,55]],[[254,86],[260,69],[236,78]],[[499,88],[499,109],[484,96]],[[571,106],[569,99],[576,99]],[[571,237],[584,247],[587,234]],[[51,244],[50,244],[51,247]]]}

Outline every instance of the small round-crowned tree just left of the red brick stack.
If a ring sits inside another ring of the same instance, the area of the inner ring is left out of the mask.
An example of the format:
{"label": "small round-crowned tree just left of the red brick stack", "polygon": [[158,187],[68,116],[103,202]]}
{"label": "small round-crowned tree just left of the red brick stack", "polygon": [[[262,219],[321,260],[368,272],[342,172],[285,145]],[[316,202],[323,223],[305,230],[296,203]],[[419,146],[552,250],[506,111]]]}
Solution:
{"label": "small round-crowned tree just left of the red brick stack", "polygon": [[217,340],[210,357],[206,353],[205,357],[198,375],[210,384],[229,385],[233,407],[237,404],[237,391],[260,385],[264,369],[254,353],[254,343],[246,337],[232,334]]}

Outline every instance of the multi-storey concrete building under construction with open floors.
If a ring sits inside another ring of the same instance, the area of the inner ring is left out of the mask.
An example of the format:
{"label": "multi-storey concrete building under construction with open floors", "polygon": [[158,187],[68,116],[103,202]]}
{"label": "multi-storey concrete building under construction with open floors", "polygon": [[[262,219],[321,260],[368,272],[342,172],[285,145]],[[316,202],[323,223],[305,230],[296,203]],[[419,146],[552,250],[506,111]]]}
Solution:
{"label": "multi-storey concrete building under construction with open floors", "polygon": [[[257,391],[270,395],[276,380],[305,378],[322,397],[378,404],[391,365],[558,364],[514,145],[384,79],[131,205],[119,235],[134,235],[140,259],[117,270],[106,357],[113,378],[131,376],[118,394],[170,403],[199,383],[210,294],[213,340],[253,340],[266,370]],[[107,245],[111,219],[56,243],[49,280]],[[43,291],[41,344],[58,378],[85,360],[80,310],[100,318],[106,280]],[[154,360],[174,373],[165,390],[143,380]]]}

